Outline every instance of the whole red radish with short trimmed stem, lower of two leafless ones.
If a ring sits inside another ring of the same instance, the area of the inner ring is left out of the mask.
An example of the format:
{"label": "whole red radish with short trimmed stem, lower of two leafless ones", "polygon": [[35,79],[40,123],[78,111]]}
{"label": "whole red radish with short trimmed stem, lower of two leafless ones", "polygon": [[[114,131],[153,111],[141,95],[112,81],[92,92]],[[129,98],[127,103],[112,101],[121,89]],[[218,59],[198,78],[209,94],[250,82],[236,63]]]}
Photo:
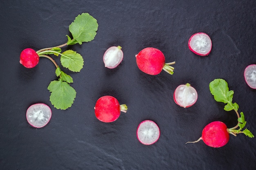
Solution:
{"label": "whole red radish with short trimmed stem, lower of two leafless ones", "polygon": [[100,121],[109,123],[115,121],[121,111],[126,113],[127,106],[125,104],[119,104],[118,100],[112,96],[100,97],[94,107],[95,116]]}

